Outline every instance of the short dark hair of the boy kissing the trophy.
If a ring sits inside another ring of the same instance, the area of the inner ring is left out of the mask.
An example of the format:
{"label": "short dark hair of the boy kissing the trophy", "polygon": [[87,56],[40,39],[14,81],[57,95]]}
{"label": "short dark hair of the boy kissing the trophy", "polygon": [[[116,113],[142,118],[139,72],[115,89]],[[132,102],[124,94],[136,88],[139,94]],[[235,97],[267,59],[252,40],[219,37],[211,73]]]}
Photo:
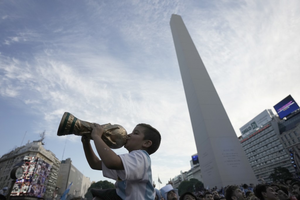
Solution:
{"label": "short dark hair of the boy kissing the trophy", "polygon": [[142,126],[146,128],[146,130],[144,131],[144,139],[150,140],[152,142],[152,145],[149,148],[147,148],[146,151],[149,155],[153,154],[155,151],[158,150],[159,145],[161,144],[161,134],[158,132],[158,130],[156,130],[149,124],[141,123],[137,126]]}

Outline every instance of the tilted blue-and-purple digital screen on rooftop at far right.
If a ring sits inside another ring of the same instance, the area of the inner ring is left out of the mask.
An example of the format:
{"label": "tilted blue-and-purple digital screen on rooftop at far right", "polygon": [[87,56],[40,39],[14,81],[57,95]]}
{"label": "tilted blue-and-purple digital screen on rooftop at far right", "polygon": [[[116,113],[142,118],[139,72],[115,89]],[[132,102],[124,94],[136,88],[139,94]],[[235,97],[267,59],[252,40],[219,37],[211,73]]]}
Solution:
{"label": "tilted blue-and-purple digital screen on rooftop at far right", "polygon": [[295,102],[291,95],[285,97],[282,101],[277,103],[274,106],[278,116],[280,119],[286,117],[287,115],[291,114],[295,110],[299,109],[298,104]]}

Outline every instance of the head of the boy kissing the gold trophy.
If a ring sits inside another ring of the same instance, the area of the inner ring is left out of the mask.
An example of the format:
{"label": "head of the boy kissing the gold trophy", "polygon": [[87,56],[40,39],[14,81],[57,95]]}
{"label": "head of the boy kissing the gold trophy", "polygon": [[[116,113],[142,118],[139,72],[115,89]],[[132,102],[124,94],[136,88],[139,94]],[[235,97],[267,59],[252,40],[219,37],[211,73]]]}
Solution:
{"label": "head of the boy kissing the gold trophy", "polygon": [[129,151],[145,150],[149,155],[158,150],[161,144],[161,135],[149,124],[138,124],[132,133],[128,134],[128,139],[124,147]]}

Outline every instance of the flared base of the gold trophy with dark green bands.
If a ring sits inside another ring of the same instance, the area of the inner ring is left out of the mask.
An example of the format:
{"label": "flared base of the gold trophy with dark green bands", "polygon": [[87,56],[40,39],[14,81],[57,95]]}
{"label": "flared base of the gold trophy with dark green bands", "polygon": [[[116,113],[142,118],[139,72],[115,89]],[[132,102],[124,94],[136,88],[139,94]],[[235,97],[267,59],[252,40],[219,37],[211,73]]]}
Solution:
{"label": "flared base of the gold trophy with dark green bands", "polygon": [[74,115],[72,115],[70,112],[64,112],[58,127],[57,135],[65,136],[73,134],[72,132],[76,121],[77,118]]}

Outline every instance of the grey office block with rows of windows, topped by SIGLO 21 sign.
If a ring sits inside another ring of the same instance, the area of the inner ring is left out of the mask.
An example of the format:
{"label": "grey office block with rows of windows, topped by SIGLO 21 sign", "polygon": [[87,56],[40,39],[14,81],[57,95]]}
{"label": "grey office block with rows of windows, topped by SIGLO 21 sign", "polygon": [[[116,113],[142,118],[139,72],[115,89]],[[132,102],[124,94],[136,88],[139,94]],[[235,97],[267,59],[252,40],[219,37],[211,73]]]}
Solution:
{"label": "grey office block with rows of windows, topped by SIGLO 21 sign", "polygon": [[275,167],[286,167],[290,172],[295,172],[289,154],[278,137],[278,122],[280,119],[267,109],[240,128],[241,145],[258,180],[262,178],[272,182],[269,176]]}

